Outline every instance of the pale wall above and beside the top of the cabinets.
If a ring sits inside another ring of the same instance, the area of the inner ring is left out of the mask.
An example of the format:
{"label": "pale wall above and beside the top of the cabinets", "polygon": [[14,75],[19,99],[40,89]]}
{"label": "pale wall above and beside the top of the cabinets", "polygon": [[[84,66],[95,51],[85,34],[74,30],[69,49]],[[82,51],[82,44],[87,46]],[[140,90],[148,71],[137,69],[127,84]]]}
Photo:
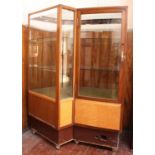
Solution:
{"label": "pale wall above and beside the top of the cabinets", "polygon": [[22,24],[27,25],[28,13],[57,4],[64,4],[76,8],[97,6],[128,6],[128,29],[132,29],[132,1],[133,0],[23,0]]}

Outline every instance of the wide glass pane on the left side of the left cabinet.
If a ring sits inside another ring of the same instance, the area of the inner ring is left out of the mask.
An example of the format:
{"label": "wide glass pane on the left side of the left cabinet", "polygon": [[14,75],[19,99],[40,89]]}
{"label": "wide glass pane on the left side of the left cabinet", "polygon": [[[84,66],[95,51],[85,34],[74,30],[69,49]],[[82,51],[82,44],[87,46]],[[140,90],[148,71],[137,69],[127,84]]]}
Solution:
{"label": "wide glass pane on the left side of the left cabinet", "polygon": [[30,16],[29,88],[55,98],[57,9]]}

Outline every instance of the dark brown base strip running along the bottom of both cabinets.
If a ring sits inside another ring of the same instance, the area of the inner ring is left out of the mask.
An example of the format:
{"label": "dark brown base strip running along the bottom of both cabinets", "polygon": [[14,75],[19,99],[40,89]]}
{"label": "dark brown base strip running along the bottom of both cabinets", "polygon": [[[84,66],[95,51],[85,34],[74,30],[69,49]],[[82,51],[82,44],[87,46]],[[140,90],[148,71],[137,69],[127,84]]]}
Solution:
{"label": "dark brown base strip running along the bottom of both cabinets", "polygon": [[82,142],[98,145],[110,148],[112,151],[117,151],[119,146],[119,131],[94,129],[75,125],[73,133],[72,126],[57,130],[33,116],[29,116],[29,122],[32,133],[41,135],[53,143],[56,149],[60,149],[61,145],[73,140],[76,144]]}

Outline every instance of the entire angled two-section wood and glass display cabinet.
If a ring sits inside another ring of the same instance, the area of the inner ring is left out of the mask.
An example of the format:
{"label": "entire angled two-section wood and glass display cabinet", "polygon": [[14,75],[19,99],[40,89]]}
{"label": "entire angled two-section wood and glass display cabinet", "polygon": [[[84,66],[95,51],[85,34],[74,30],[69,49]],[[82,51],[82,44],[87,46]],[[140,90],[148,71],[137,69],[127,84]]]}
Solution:
{"label": "entire angled two-section wood and glass display cabinet", "polygon": [[60,148],[118,147],[126,7],[57,5],[29,14],[29,123]]}

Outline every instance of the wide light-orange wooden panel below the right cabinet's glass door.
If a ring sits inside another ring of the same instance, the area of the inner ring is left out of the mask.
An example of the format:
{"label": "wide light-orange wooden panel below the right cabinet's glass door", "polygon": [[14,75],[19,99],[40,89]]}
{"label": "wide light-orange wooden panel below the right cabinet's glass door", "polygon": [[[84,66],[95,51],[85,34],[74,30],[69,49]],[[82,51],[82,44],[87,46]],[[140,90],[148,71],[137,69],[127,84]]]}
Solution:
{"label": "wide light-orange wooden panel below the right cabinet's glass door", "polygon": [[75,123],[119,131],[121,104],[76,99]]}

